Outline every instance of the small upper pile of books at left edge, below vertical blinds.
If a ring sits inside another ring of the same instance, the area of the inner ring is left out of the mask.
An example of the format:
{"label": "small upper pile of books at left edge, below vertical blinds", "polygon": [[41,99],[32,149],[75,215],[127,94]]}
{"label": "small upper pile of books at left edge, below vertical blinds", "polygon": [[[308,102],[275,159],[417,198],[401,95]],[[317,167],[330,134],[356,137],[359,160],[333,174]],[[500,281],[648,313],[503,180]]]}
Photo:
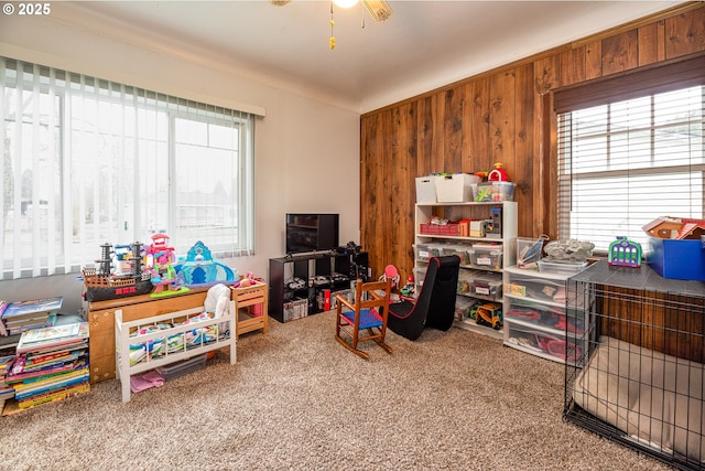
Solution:
{"label": "small upper pile of books at left edge, below vertical blinds", "polygon": [[64,298],[33,299],[29,301],[0,301],[0,334],[17,335],[31,329],[54,325]]}

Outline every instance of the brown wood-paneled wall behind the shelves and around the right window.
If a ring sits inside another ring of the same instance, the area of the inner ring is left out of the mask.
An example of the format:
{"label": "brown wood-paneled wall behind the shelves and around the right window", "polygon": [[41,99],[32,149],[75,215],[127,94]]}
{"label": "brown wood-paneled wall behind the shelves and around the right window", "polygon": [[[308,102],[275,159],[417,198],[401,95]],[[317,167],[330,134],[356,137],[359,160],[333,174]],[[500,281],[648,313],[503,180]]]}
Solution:
{"label": "brown wood-paneled wall behind the shelves and around the right window", "polygon": [[[519,235],[556,237],[552,90],[705,51],[705,4],[687,2],[362,115],[360,244],[373,276],[412,272],[415,178],[501,162]],[[403,283],[403,279],[402,279]]]}

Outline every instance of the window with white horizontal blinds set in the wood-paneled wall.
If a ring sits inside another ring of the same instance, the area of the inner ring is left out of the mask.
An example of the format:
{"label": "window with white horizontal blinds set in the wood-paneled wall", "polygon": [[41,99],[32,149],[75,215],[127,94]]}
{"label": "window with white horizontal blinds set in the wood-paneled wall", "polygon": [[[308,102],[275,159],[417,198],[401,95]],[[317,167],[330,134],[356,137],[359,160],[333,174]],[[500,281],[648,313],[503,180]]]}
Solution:
{"label": "window with white horizontal blinds set in the wood-paneled wall", "polygon": [[703,218],[704,58],[555,93],[561,239],[648,249],[652,220]]}

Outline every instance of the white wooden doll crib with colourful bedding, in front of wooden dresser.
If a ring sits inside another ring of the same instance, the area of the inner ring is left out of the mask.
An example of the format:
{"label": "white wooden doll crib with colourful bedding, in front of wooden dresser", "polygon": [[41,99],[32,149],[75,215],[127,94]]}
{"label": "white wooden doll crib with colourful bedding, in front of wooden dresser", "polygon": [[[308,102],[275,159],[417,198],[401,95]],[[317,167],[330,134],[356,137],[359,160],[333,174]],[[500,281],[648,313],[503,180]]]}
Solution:
{"label": "white wooden doll crib with colourful bedding, in front of wooden dresser", "polygon": [[[227,317],[216,319],[196,318],[203,312],[203,308],[186,309],[183,311],[171,312],[151,318],[138,319],[135,321],[123,321],[122,310],[115,312],[115,343],[116,352],[116,372],[118,379],[121,382],[122,402],[130,400],[130,376],[154,370],[159,366],[165,366],[181,360],[188,360],[193,356],[200,355],[224,346],[230,347],[230,364],[235,365],[237,361],[237,334],[236,334],[236,308],[235,301],[230,301],[230,309]],[[192,319],[194,318],[194,319]],[[184,321],[191,319],[188,323]],[[137,329],[171,324],[169,329],[159,329],[148,333],[137,332]],[[196,338],[193,342],[187,342],[186,332],[198,332],[208,328],[216,332],[214,338],[207,341],[203,335]],[[230,331],[228,335],[226,331]],[[174,341],[175,339],[175,341]],[[147,353],[142,358],[131,358],[130,345],[145,345],[147,352],[151,352],[150,345],[161,342],[165,347],[162,355],[152,357],[151,353]]]}

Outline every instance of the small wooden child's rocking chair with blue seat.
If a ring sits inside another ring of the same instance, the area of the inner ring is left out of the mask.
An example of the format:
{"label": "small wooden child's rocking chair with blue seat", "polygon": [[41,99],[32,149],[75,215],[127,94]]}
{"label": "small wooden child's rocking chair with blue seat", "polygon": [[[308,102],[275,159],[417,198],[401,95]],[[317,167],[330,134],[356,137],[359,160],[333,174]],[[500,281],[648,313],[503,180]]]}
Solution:
{"label": "small wooden child's rocking chair with blue seat", "polygon": [[[357,345],[367,340],[373,340],[388,353],[392,352],[391,346],[384,343],[391,288],[391,279],[366,283],[358,279],[354,302],[345,296],[336,296],[335,339],[340,345],[366,360],[369,354],[358,350]],[[347,339],[340,332],[345,332]]]}

